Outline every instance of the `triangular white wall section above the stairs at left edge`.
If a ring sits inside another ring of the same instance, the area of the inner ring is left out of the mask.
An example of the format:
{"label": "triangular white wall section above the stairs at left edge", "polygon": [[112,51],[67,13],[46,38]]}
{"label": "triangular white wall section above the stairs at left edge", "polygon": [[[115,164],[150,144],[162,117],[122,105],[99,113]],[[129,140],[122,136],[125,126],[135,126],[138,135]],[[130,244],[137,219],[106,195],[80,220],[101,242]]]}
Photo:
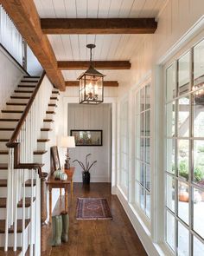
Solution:
{"label": "triangular white wall section above the stairs at left edge", "polygon": [[22,69],[0,47],[0,110],[5,107],[22,75]]}

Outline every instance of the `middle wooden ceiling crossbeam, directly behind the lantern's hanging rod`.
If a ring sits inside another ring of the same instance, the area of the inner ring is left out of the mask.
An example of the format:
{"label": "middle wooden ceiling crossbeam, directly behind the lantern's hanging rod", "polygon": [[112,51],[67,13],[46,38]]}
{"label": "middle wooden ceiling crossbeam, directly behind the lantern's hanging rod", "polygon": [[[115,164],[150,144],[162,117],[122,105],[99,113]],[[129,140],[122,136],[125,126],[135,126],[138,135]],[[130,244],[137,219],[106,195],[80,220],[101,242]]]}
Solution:
{"label": "middle wooden ceiling crossbeam, directly behind the lantern's hanging rod", "polygon": [[[98,61],[93,62],[95,69],[131,69],[131,62],[129,61]],[[88,69],[90,62],[58,62],[58,69],[62,70],[83,70]]]}

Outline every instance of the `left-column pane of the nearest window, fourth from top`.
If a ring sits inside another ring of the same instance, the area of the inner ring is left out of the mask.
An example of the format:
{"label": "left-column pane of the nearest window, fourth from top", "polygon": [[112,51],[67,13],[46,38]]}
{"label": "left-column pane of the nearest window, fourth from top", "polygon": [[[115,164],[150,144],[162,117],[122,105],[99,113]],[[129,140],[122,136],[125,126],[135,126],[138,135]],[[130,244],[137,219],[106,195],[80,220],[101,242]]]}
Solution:
{"label": "left-column pane of the nearest window, fourth from top", "polygon": [[167,207],[172,212],[175,212],[175,179],[173,179],[171,176],[167,175],[167,184],[166,184],[166,204]]}

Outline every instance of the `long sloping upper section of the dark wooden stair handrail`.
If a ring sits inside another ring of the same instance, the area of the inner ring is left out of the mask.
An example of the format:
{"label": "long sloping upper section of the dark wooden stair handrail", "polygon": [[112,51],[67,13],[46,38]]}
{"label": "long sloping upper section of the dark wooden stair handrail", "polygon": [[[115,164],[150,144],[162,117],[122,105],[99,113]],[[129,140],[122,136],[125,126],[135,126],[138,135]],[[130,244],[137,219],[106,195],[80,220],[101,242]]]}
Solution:
{"label": "long sloping upper section of the dark wooden stair handrail", "polygon": [[31,108],[31,106],[35,100],[35,96],[41,87],[41,82],[42,82],[45,74],[46,74],[45,71],[43,71],[41,74],[41,78],[40,78],[39,82],[37,83],[37,86],[35,87],[35,90],[34,90],[33,94],[31,95],[29,102],[28,102],[26,108],[24,109],[22,116],[21,116],[20,120],[18,121],[13,134],[10,137],[10,141],[6,143],[6,146],[8,148],[15,148],[17,137],[21,131],[22,125],[23,125],[24,121],[26,120],[27,115],[29,114],[29,109]]}

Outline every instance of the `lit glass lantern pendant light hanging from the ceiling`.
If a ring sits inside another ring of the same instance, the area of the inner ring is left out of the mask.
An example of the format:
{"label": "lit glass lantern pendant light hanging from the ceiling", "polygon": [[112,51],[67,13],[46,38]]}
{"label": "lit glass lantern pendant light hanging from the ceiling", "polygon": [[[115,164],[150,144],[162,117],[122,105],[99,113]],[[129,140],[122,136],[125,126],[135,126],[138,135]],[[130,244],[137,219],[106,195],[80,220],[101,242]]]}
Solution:
{"label": "lit glass lantern pendant light hanging from the ceiling", "polygon": [[80,75],[80,103],[83,104],[99,104],[104,102],[104,76],[93,68],[92,49],[95,44],[87,44],[90,49],[90,66],[85,73]]}

